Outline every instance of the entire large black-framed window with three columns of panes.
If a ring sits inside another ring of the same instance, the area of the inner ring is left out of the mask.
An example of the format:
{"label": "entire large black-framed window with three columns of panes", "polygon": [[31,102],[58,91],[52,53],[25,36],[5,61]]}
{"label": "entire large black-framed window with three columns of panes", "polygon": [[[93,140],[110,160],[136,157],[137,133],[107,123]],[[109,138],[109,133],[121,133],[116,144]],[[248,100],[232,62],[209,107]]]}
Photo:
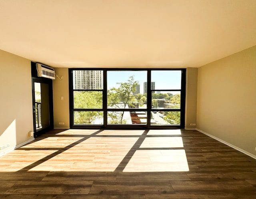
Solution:
{"label": "entire large black-framed window with three columns of panes", "polygon": [[186,69],[69,69],[70,127],[184,127]]}

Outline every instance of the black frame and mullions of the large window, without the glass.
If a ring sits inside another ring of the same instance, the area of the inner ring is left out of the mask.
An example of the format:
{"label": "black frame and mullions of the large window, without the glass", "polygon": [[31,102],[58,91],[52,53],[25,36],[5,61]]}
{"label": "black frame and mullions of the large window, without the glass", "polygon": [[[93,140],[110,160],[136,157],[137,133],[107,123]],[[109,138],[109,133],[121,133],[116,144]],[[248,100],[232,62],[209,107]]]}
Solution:
{"label": "black frame and mullions of the large window, without the glass", "polygon": [[[73,71],[74,70],[102,70],[103,71],[103,89],[102,90],[77,90],[73,86]],[[152,89],[151,88],[151,72],[152,71],[164,71],[164,70],[179,70],[181,71],[181,88],[177,89]],[[128,108],[128,109],[113,109],[107,107],[107,72],[108,71],[146,71],[147,72],[147,108]],[[74,109],[74,91],[102,91],[102,109]],[[156,91],[179,91],[180,92],[180,109],[154,109],[152,108],[152,92]],[[185,126],[185,95],[186,95],[186,68],[69,68],[69,101],[70,101],[70,128],[104,128],[104,129],[176,129],[184,128]],[[74,111],[103,111],[103,125],[84,125],[84,124],[74,124]],[[146,111],[147,112],[147,122],[146,124],[108,124],[107,113],[108,111]],[[150,115],[152,111],[180,111],[180,124],[179,125],[151,125]]]}

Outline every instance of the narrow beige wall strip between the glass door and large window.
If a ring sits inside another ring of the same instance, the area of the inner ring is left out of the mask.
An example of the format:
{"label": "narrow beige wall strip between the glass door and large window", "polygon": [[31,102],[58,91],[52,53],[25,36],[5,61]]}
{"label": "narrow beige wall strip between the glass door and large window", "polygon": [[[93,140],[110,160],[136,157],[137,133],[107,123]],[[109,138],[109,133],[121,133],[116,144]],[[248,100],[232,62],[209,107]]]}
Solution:
{"label": "narrow beige wall strip between the glass door and large window", "polygon": [[[62,77],[62,80],[57,77],[53,80],[54,128],[68,129],[70,127],[68,68],[55,68],[54,70],[59,77]],[[63,99],[61,97],[63,97]],[[64,122],[64,125],[59,124],[60,122]]]}

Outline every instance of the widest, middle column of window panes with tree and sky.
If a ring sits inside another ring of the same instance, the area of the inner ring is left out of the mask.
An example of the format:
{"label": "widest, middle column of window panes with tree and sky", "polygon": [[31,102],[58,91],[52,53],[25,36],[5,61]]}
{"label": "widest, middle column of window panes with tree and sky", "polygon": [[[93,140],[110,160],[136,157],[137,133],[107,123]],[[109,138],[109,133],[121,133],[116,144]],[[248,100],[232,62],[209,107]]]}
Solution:
{"label": "widest, middle column of window panes with tree and sky", "polygon": [[146,125],[147,71],[107,71],[107,125]]}

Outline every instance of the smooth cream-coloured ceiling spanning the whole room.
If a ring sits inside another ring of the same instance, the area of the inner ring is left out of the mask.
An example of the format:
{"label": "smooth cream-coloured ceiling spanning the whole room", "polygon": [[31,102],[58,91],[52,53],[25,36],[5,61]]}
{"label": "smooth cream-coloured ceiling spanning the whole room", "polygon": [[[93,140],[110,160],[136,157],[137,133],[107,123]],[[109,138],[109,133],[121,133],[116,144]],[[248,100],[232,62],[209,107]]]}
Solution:
{"label": "smooth cream-coloured ceiling spanning the whole room", "polygon": [[0,0],[0,49],[52,67],[200,67],[256,45],[256,0]]}

